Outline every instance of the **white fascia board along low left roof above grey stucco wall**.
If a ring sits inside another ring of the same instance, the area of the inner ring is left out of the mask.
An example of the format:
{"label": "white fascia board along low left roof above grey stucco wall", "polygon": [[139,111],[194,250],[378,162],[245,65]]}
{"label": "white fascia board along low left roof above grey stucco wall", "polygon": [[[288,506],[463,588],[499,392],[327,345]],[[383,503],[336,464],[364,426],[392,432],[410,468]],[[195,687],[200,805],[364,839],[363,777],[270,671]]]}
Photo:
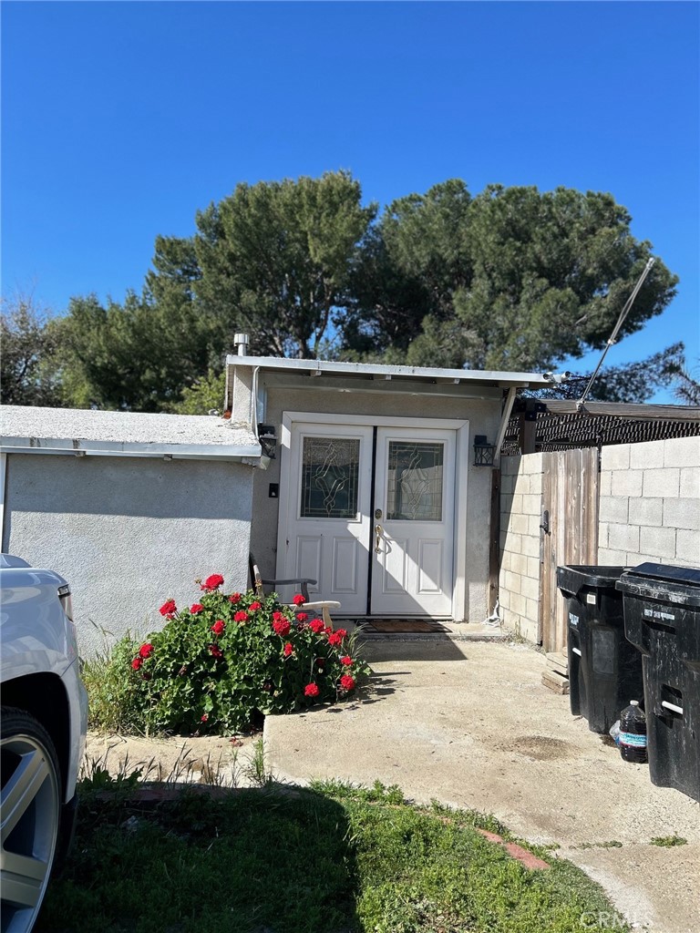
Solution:
{"label": "white fascia board along low left roof above grey stucco wall", "polygon": [[224,444],[149,444],[139,441],[84,440],[67,438],[3,438],[4,453],[58,453],[73,456],[156,457],[168,460],[228,460],[250,463],[259,460],[259,444],[227,447]]}

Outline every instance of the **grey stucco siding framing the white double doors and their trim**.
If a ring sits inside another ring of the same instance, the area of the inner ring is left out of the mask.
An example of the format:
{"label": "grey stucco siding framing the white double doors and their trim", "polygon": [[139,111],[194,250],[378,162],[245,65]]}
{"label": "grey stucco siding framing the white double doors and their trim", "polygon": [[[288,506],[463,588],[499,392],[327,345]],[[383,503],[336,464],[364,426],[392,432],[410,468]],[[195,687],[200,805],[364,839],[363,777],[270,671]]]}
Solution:
{"label": "grey stucco siding framing the white double doors and their trim", "polygon": [[[475,434],[493,441],[500,423],[500,398],[470,399],[396,395],[385,397],[362,393],[361,390],[339,393],[319,387],[296,389],[271,386],[267,391],[265,423],[275,425],[281,437],[283,411],[309,411],[343,415],[369,415],[396,418],[441,418],[469,421],[469,462],[461,469],[469,472],[467,479],[467,555],[462,572],[466,578],[467,618],[481,622],[488,615],[488,545],[491,502],[491,470],[472,465],[472,443]],[[332,422],[332,419],[331,419]],[[280,482],[280,453],[266,471],[256,471],[253,494],[251,548],[264,576],[274,576],[277,550],[278,500],[270,498],[270,483]],[[284,542],[281,542],[284,546]]]}

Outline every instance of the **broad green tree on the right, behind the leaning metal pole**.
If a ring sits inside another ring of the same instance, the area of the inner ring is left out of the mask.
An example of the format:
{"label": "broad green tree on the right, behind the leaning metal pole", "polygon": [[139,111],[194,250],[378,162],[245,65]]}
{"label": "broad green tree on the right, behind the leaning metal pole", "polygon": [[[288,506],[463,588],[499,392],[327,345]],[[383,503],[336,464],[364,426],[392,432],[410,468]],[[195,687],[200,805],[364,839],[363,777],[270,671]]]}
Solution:
{"label": "broad green tree on the right, behind the leaning metal pole", "polygon": [[[373,249],[427,307],[406,315],[406,362],[552,369],[602,348],[651,255],[630,219],[609,194],[489,186],[470,198],[456,180],[392,203]],[[657,259],[621,338],[664,310],[677,281]],[[356,301],[349,351],[385,329],[386,304],[381,289]]]}

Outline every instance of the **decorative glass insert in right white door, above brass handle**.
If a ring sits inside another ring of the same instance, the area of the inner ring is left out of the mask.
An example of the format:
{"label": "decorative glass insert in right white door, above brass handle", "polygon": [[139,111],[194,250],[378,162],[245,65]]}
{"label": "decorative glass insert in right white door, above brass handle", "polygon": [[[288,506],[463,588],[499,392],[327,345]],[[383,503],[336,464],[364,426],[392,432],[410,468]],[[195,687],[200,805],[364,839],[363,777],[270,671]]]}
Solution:
{"label": "decorative glass insert in right white door, above brass handle", "polygon": [[389,441],[386,518],[441,522],[443,445]]}

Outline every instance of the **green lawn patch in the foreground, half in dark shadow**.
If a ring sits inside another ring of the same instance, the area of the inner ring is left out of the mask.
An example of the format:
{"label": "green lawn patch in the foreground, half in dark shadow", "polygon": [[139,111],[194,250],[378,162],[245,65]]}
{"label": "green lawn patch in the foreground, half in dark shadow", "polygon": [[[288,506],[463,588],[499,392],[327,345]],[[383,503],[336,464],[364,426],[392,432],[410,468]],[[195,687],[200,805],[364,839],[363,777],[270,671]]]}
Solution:
{"label": "green lawn patch in the foreground, half in dark shadow", "polygon": [[476,831],[511,838],[492,817],[399,787],[268,781],[148,805],[128,776],[105,789],[102,772],[81,784],[37,933],[580,933],[584,913],[615,915],[569,862],[530,846],[552,868],[526,870]]}

